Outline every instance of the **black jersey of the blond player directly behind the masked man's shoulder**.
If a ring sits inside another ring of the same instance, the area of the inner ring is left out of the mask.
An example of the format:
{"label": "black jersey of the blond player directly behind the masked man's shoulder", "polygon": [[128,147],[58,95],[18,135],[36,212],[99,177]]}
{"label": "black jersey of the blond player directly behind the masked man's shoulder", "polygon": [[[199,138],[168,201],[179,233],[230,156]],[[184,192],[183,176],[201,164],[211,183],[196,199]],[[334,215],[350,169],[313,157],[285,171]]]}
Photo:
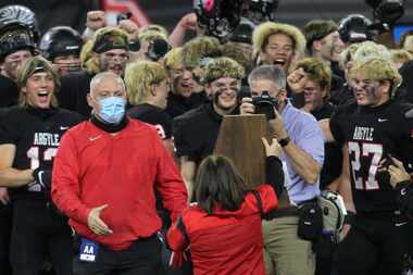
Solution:
{"label": "black jersey of the blond player directly behind the masked man's shoulder", "polygon": [[143,103],[127,110],[127,114],[132,118],[154,125],[162,139],[172,138],[172,117],[161,108]]}

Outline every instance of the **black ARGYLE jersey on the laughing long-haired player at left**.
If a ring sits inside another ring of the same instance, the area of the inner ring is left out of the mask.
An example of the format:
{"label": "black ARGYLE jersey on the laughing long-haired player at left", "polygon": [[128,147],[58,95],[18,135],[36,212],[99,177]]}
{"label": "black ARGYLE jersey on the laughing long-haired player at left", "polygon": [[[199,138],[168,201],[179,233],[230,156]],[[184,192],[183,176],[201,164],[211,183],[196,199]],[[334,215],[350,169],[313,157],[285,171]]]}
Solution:
{"label": "black ARGYLE jersey on the laughing long-haired player at left", "polygon": [[[0,145],[15,145],[14,168],[51,168],[62,135],[82,120],[79,114],[59,108],[14,107],[1,116]],[[43,193],[29,191],[27,186],[10,191],[13,199],[45,198]]]}

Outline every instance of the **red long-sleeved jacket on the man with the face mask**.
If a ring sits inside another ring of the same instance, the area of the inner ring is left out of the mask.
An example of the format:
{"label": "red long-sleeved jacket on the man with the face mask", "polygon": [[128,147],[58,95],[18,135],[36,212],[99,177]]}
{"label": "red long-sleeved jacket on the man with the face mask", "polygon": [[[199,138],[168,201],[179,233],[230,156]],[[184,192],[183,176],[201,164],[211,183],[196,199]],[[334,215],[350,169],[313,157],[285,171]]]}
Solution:
{"label": "red long-sleeved jacket on the man with the face mask", "polygon": [[[63,136],[54,160],[52,199],[86,238],[113,250],[128,248],[161,228],[157,188],[172,220],[187,205],[187,191],[173,158],[157,129],[137,120],[111,135],[84,122]],[[100,217],[113,230],[93,234],[87,217],[92,208],[108,204]]]}

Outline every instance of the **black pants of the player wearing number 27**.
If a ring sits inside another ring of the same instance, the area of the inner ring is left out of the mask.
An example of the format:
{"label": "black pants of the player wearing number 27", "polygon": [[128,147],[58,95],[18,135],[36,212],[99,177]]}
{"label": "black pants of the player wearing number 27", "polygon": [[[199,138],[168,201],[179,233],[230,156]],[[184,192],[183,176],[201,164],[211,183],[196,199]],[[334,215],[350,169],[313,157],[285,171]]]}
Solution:
{"label": "black pants of the player wearing number 27", "polygon": [[339,275],[400,275],[406,251],[408,224],[392,216],[355,217],[338,245],[335,270]]}

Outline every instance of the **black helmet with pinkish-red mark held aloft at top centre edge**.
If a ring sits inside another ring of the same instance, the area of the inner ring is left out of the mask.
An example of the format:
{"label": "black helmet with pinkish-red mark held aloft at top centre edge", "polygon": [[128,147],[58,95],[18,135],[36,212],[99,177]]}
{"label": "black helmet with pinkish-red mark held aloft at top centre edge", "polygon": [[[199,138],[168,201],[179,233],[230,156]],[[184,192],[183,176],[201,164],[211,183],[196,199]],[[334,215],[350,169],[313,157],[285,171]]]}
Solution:
{"label": "black helmet with pinkish-red mark held aloft at top centre edge", "polygon": [[206,35],[224,38],[240,22],[241,0],[193,0],[193,9]]}

